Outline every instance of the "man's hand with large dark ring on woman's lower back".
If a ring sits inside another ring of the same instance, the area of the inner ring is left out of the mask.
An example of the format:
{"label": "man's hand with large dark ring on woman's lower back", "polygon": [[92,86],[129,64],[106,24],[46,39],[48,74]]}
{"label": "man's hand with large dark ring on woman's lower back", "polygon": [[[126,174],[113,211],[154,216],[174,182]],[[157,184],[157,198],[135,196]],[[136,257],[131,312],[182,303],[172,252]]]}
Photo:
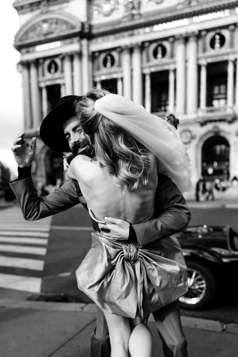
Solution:
{"label": "man's hand with large dark ring on woman's lower back", "polygon": [[[130,223],[117,218],[105,217],[104,221],[106,226],[110,229],[109,233],[100,232],[105,238],[112,238],[115,241],[126,241],[129,238]],[[105,224],[99,223],[99,228],[105,226]]]}

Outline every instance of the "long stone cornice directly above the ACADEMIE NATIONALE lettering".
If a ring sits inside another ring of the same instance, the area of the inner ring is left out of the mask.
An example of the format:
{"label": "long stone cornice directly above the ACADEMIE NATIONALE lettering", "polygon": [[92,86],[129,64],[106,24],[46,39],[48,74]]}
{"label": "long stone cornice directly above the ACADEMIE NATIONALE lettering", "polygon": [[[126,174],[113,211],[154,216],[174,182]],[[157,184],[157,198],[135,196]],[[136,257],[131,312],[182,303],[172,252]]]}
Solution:
{"label": "long stone cornice directly above the ACADEMIE NATIONALE lettering", "polygon": [[[210,5],[210,6],[209,6]],[[159,14],[155,14],[155,11],[153,12],[148,12],[146,14],[143,14],[143,17],[140,19],[128,19],[128,20],[123,20],[123,19],[118,19],[115,21],[107,21],[106,24],[97,24],[93,25],[91,24],[91,34],[92,37],[99,37],[99,36],[104,36],[104,35],[110,35],[110,34],[115,34],[118,32],[124,32],[128,30],[136,30],[138,28],[143,27],[149,27],[156,25],[158,23],[163,23],[163,22],[170,22],[170,21],[176,21],[176,20],[181,20],[184,19],[184,17],[193,17],[193,16],[199,16],[203,14],[207,14],[209,12],[216,12],[216,11],[221,11],[225,9],[233,9],[234,7],[238,6],[238,1],[216,1],[212,6],[211,4],[206,4],[206,5],[197,5],[193,7],[186,7],[183,8],[182,11],[181,9],[176,9],[174,11],[169,11],[170,15],[166,15],[166,10],[164,12],[160,11]]]}

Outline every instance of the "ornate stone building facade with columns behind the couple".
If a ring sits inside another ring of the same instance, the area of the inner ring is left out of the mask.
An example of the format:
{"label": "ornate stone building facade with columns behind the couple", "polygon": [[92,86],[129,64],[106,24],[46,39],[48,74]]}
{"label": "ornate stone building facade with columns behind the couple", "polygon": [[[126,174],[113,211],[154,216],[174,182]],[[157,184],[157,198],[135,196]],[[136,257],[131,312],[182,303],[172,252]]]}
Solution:
{"label": "ornate stone building facade with columns behind the couple", "polygon": [[[201,176],[238,176],[238,1],[19,0],[14,7],[29,139],[39,137],[60,96],[107,87],[179,118],[194,185]],[[35,177],[54,184],[63,178],[61,154],[40,139],[38,149]]]}

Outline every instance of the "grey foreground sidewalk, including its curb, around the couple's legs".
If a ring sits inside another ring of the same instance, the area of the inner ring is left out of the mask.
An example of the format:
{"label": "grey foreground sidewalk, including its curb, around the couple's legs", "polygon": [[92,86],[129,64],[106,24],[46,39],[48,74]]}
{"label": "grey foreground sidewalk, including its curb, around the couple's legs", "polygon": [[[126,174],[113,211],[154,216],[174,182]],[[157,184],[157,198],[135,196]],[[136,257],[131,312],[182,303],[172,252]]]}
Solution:
{"label": "grey foreground sidewalk, including its curb, around the couple's legs", "polygon": [[[95,321],[93,304],[0,300],[0,356],[89,357]],[[189,357],[237,356],[237,325],[184,317],[182,324]],[[153,318],[149,327],[153,336],[152,357],[162,357]]]}

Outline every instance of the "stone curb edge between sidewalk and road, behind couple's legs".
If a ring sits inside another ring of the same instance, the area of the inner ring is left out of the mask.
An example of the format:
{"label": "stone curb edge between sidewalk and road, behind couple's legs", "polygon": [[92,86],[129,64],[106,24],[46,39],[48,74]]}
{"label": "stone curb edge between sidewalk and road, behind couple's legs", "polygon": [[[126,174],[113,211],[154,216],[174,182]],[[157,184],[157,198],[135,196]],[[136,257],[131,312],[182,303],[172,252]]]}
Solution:
{"label": "stone curb edge between sidewalk and road, behind couple's legs", "polygon": [[[77,302],[45,302],[45,301],[17,301],[0,299],[1,308],[12,309],[30,309],[30,310],[46,310],[46,311],[75,311],[96,314],[96,304],[86,304]],[[150,315],[149,321],[153,322],[153,316]],[[216,320],[207,320],[198,317],[181,316],[183,327],[196,328],[197,330],[206,330],[222,333],[238,334],[238,324],[224,323]]]}

